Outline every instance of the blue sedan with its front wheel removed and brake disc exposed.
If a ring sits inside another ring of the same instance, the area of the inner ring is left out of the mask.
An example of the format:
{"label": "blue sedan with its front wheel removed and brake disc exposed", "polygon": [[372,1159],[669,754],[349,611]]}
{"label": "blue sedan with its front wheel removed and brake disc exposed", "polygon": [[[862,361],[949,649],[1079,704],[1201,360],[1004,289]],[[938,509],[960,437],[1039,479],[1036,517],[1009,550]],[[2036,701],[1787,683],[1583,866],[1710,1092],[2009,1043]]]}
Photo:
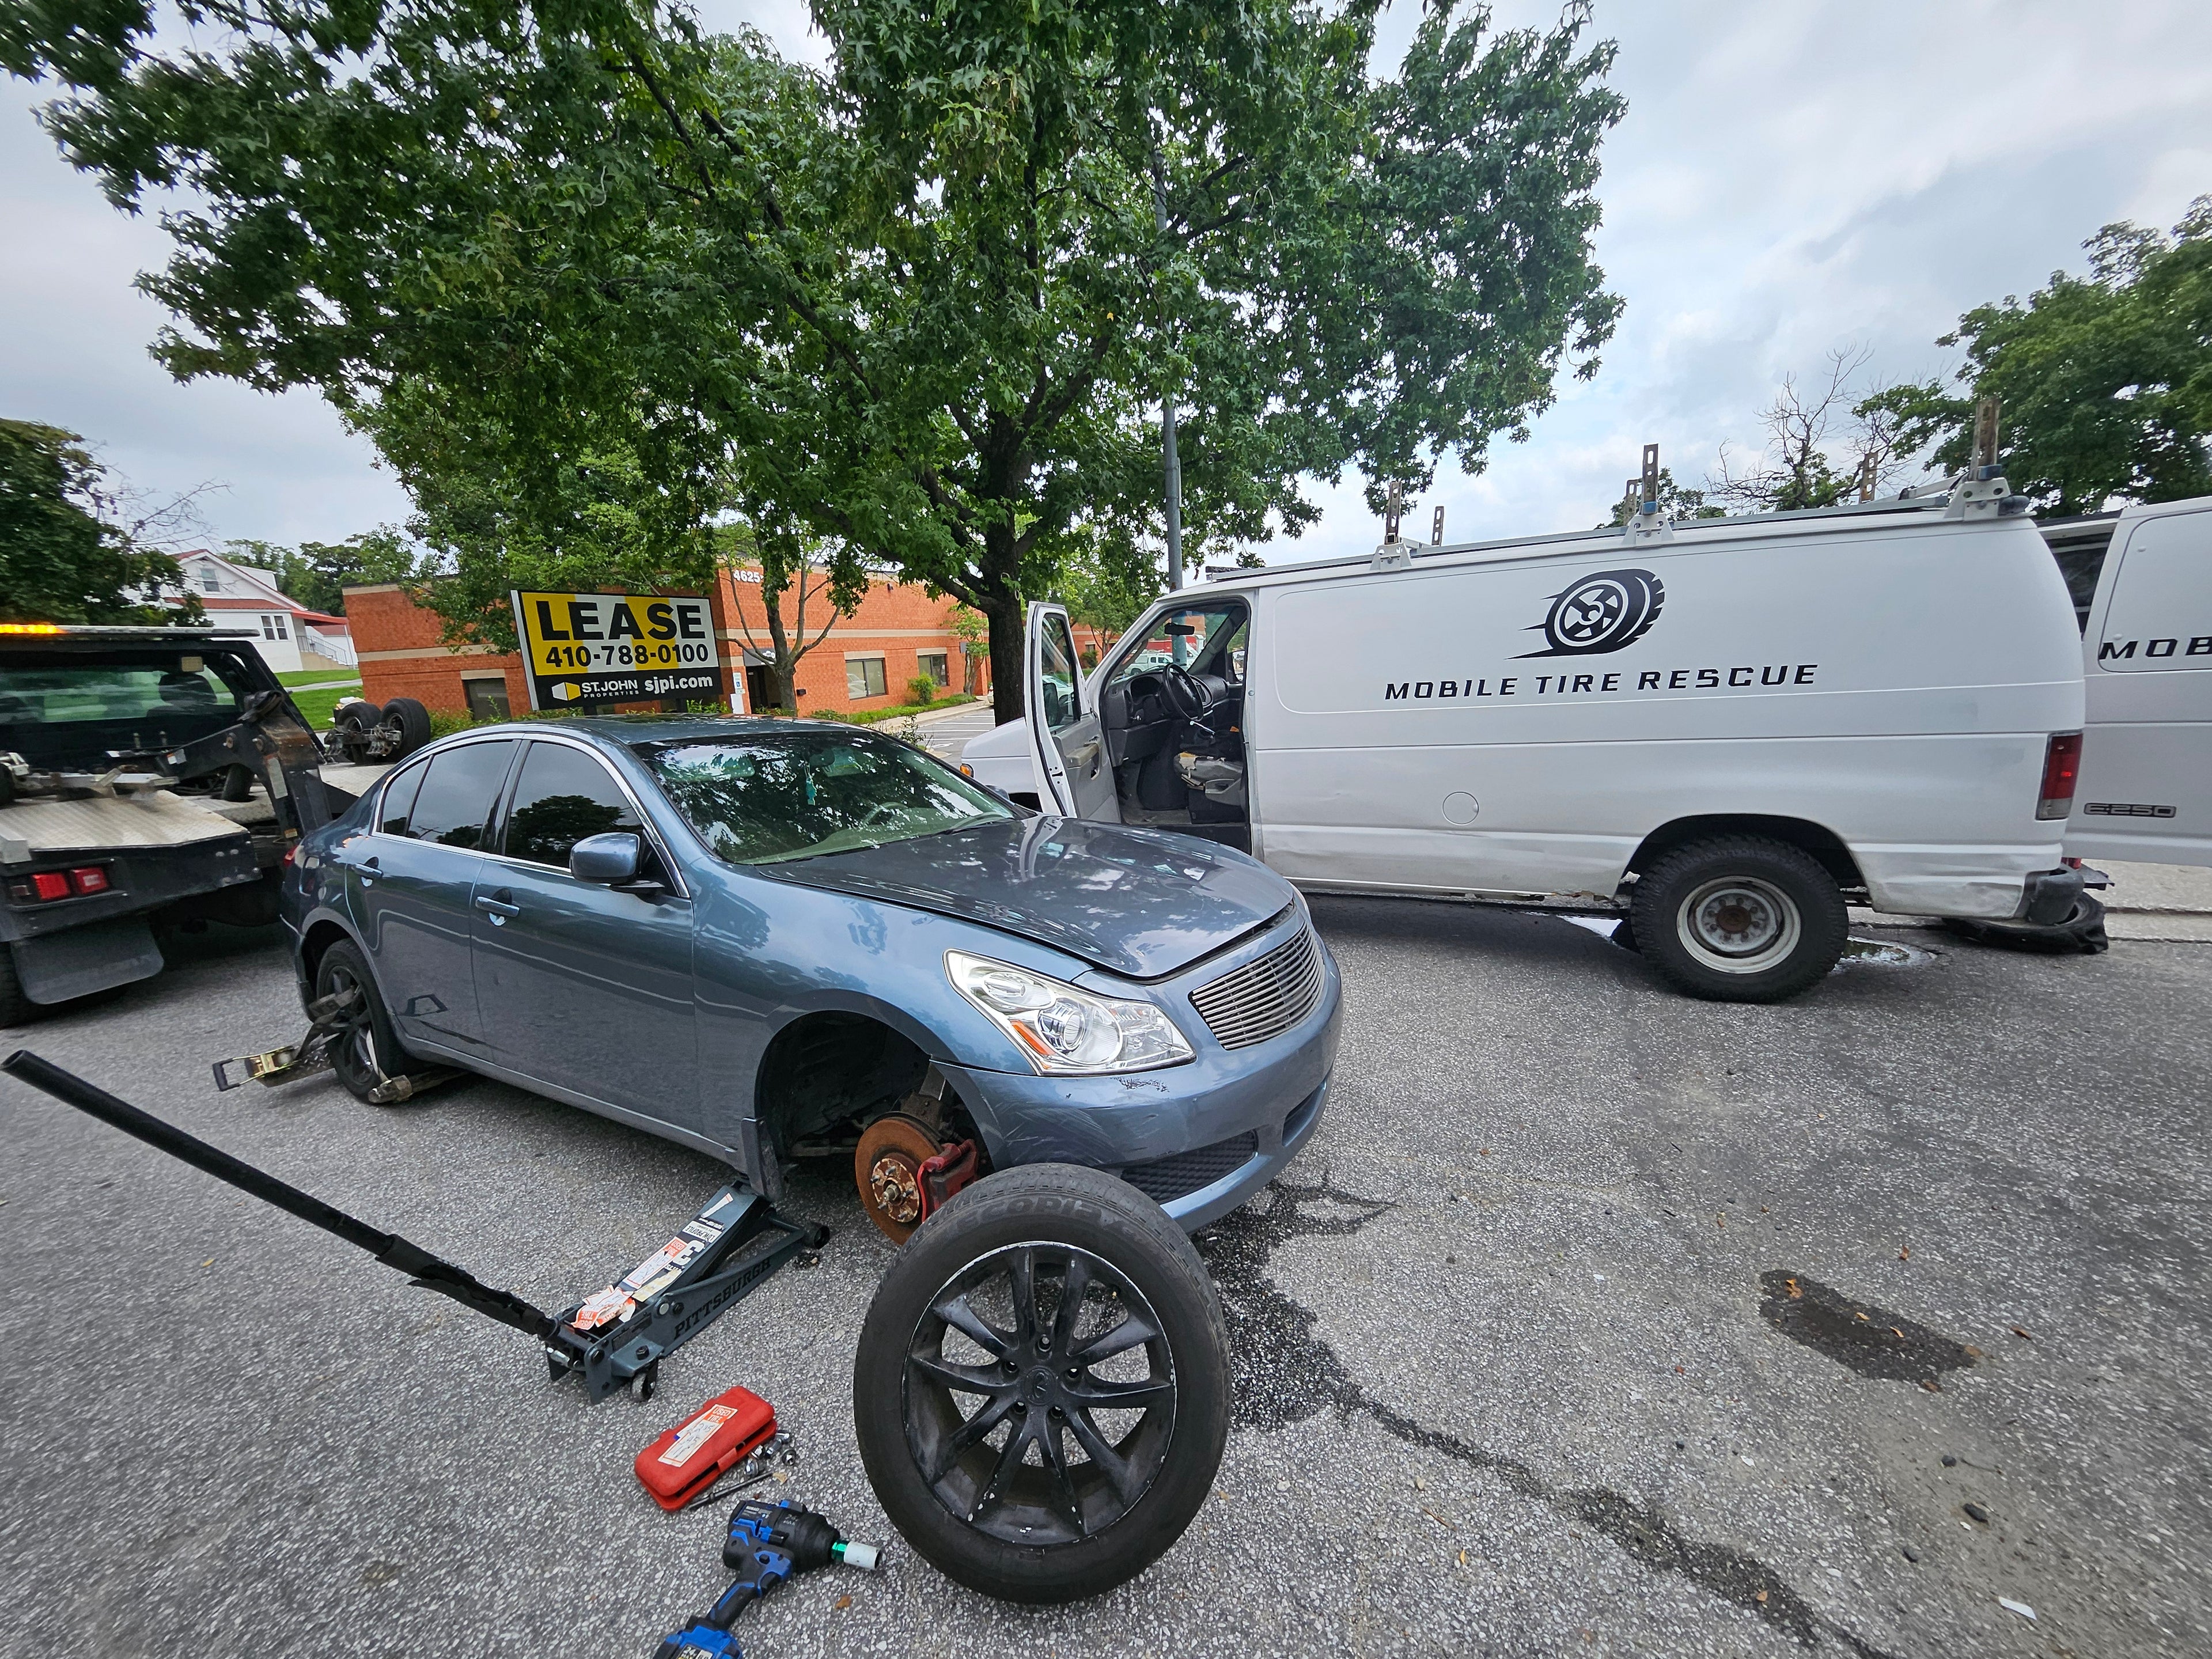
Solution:
{"label": "blue sedan with its front wheel removed and brake disc exposed", "polygon": [[1197,1230],[1296,1155],[1336,1060],[1336,964],[1265,865],[827,723],[465,732],[301,843],[283,918],[303,1000],[356,993],[356,1095],[458,1066],[772,1199],[849,1157],[894,1239],[1042,1161]]}

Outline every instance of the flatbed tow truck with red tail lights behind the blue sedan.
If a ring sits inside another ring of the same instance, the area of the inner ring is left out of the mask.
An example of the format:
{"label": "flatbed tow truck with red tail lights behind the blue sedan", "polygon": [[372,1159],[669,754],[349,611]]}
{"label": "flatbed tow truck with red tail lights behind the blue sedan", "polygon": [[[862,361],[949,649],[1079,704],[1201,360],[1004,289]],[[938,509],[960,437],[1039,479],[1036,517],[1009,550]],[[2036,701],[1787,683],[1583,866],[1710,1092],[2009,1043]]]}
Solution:
{"label": "flatbed tow truck with red tail lights behind the blue sedan", "polygon": [[323,763],[248,633],[0,624],[0,1024],[153,978],[155,927],[274,922],[354,799]]}

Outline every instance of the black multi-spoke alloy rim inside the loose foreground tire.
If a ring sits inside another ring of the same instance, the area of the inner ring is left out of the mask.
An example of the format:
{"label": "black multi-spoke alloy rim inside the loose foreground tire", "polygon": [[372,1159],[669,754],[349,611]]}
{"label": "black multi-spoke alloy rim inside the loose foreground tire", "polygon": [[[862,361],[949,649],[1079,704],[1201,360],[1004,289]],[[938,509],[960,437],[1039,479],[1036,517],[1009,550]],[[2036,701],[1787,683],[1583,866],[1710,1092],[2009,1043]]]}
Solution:
{"label": "black multi-spoke alloy rim inside the loose foreground tire", "polygon": [[902,1413],[922,1482],[962,1522],[1029,1548],[1079,1544],[1159,1478],[1175,1358],[1144,1292],[1102,1256],[1004,1245],[931,1296]]}

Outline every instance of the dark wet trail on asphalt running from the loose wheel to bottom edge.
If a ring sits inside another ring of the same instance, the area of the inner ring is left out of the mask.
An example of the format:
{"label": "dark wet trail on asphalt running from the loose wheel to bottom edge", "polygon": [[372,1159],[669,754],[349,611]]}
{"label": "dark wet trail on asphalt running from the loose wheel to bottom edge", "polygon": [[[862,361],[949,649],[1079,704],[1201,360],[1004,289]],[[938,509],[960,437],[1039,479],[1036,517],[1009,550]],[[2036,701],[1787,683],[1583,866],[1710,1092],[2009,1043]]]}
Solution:
{"label": "dark wet trail on asphalt running from the loose wheel to bottom edge", "polygon": [[1553,1486],[1526,1462],[1416,1422],[1360,1387],[1336,1349],[1314,1332],[1316,1314],[1267,1276],[1267,1261],[1292,1239],[1345,1239],[1391,1208],[1396,1206],[1380,1199],[1340,1192],[1327,1177],[1314,1186],[1279,1179],[1261,1201],[1223,1217],[1194,1239],[1221,1292],[1230,1332],[1234,1427],[1283,1429],[1329,1409],[1338,1416],[1360,1413],[1407,1444],[1482,1469],[1513,1493],[1610,1537],[1646,1568],[1677,1573],[1723,1601],[1756,1613],[1798,1646],[1809,1648],[1820,1635],[1829,1635],[1860,1659],[1891,1659],[1816,1613],[1756,1555],[1683,1537],[1655,1504],[1610,1486]]}

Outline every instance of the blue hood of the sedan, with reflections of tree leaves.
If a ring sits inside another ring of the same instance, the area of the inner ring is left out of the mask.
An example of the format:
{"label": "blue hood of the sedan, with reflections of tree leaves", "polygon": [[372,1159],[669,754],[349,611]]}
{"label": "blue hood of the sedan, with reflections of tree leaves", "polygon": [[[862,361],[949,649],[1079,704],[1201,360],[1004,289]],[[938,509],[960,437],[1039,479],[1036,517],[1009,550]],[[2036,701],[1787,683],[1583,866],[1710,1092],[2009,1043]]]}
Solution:
{"label": "blue hood of the sedan, with reflections of tree leaves", "polygon": [[984,823],[754,874],[958,916],[1133,980],[1175,973],[1296,902],[1243,854],[1079,818]]}

